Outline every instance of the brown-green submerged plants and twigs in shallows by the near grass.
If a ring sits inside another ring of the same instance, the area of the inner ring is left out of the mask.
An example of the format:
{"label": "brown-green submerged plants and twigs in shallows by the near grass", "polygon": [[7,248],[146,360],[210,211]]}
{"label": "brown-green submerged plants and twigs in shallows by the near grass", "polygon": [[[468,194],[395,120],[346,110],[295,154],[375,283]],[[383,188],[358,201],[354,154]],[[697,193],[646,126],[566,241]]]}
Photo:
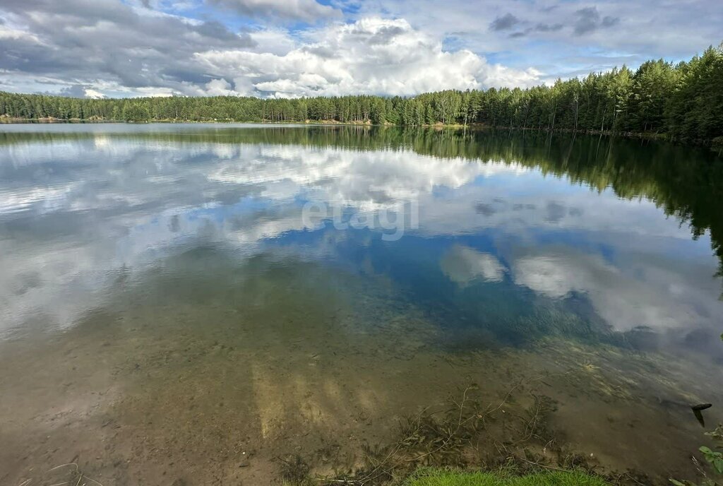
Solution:
{"label": "brown-green submerged plants and twigs in shallows by the near grass", "polygon": [[[509,478],[544,472],[557,472],[563,476],[569,473],[573,479],[578,476],[589,479],[589,482],[570,484],[605,484],[589,465],[589,458],[570,453],[557,444],[548,426],[549,414],[555,410],[555,401],[534,393],[526,385],[529,382],[517,383],[501,401],[487,405],[483,404],[478,388],[470,385],[460,391],[460,396],[450,398],[447,408],[435,412],[424,409],[416,416],[401,421],[398,438],[393,443],[384,446],[367,445],[364,448],[363,464],[353,472],[334,477],[310,477],[303,474],[309,471],[307,463],[297,457],[295,460],[283,461],[283,477],[296,485],[477,484],[455,482],[456,479],[450,479],[449,483],[429,482],[419,475],[420,470],[427,470],[424,468],[453,467],[458,470],[482,469],[492,473],[504,470],[507,474],[505,477]],[[462,478],[466,480],[466,477]],[[515,482],[510,479],[500,484],[547,483]],[[553,481],[551,484],[568,483]]]}

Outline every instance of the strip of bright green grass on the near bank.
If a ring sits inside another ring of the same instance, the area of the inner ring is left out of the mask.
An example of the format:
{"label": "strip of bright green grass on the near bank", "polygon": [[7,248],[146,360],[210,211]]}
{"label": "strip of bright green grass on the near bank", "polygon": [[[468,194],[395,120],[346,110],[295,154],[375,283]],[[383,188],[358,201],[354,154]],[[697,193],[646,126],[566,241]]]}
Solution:
{"label": "strip of bright green grass on the near bank", "polygon": [[609,486],[584,472],[544,472],[508,476],[493,472],[461,472],[450,469],[420,469],[404,486]]}

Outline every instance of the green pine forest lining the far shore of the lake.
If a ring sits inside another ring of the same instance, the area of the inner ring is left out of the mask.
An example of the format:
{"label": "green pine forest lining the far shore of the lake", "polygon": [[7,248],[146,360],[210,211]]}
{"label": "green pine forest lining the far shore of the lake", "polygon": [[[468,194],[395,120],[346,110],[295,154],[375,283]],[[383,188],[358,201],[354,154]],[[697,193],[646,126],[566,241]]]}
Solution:
{"label": "green pine forest lining the far shore of the lake", "polygon": [[333,122],[471,125],[546,132],[650,134],[723,147],[723,43],[689,61],[662,59],[534,88],[446,90],[413,97],[236,96],[86,99],[0,92],[6,121]]}

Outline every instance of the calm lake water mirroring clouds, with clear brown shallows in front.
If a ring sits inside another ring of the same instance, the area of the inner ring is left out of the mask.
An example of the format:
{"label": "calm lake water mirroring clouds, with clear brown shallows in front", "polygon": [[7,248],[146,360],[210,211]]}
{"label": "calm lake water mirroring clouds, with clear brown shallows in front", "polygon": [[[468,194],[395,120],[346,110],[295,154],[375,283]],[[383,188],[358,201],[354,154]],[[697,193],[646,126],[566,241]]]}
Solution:
{"label": "calm lake water mirroring clouds, with clear brown shallows in front", "polygon": [[0,126],[0,483],[270,484],[297,453],[325,474],[518,383],[508,415],[548,397],[555,447],[692,479],[723,420],[722,241],[698,148]]}

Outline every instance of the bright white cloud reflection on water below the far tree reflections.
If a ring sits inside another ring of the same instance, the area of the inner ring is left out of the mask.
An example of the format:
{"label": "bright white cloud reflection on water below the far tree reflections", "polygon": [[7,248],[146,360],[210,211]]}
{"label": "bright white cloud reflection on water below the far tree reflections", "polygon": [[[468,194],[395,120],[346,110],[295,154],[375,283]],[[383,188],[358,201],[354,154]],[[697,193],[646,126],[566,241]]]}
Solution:
{"label": "bright white cloud reflection on water below the far tree reflections", "polygon": [[[207,175],[226,184],[263,184],[262,195],[306,193],[327,203],[353,208],[388,208],[398,201],[432,197],[435,187],[456,189],[478,176],[515,174],[518,167],[437,158],[410,150],[349,152],[339,148],[247,145],[236,149]],[[239,161],[243,161],[240,163]]]}

